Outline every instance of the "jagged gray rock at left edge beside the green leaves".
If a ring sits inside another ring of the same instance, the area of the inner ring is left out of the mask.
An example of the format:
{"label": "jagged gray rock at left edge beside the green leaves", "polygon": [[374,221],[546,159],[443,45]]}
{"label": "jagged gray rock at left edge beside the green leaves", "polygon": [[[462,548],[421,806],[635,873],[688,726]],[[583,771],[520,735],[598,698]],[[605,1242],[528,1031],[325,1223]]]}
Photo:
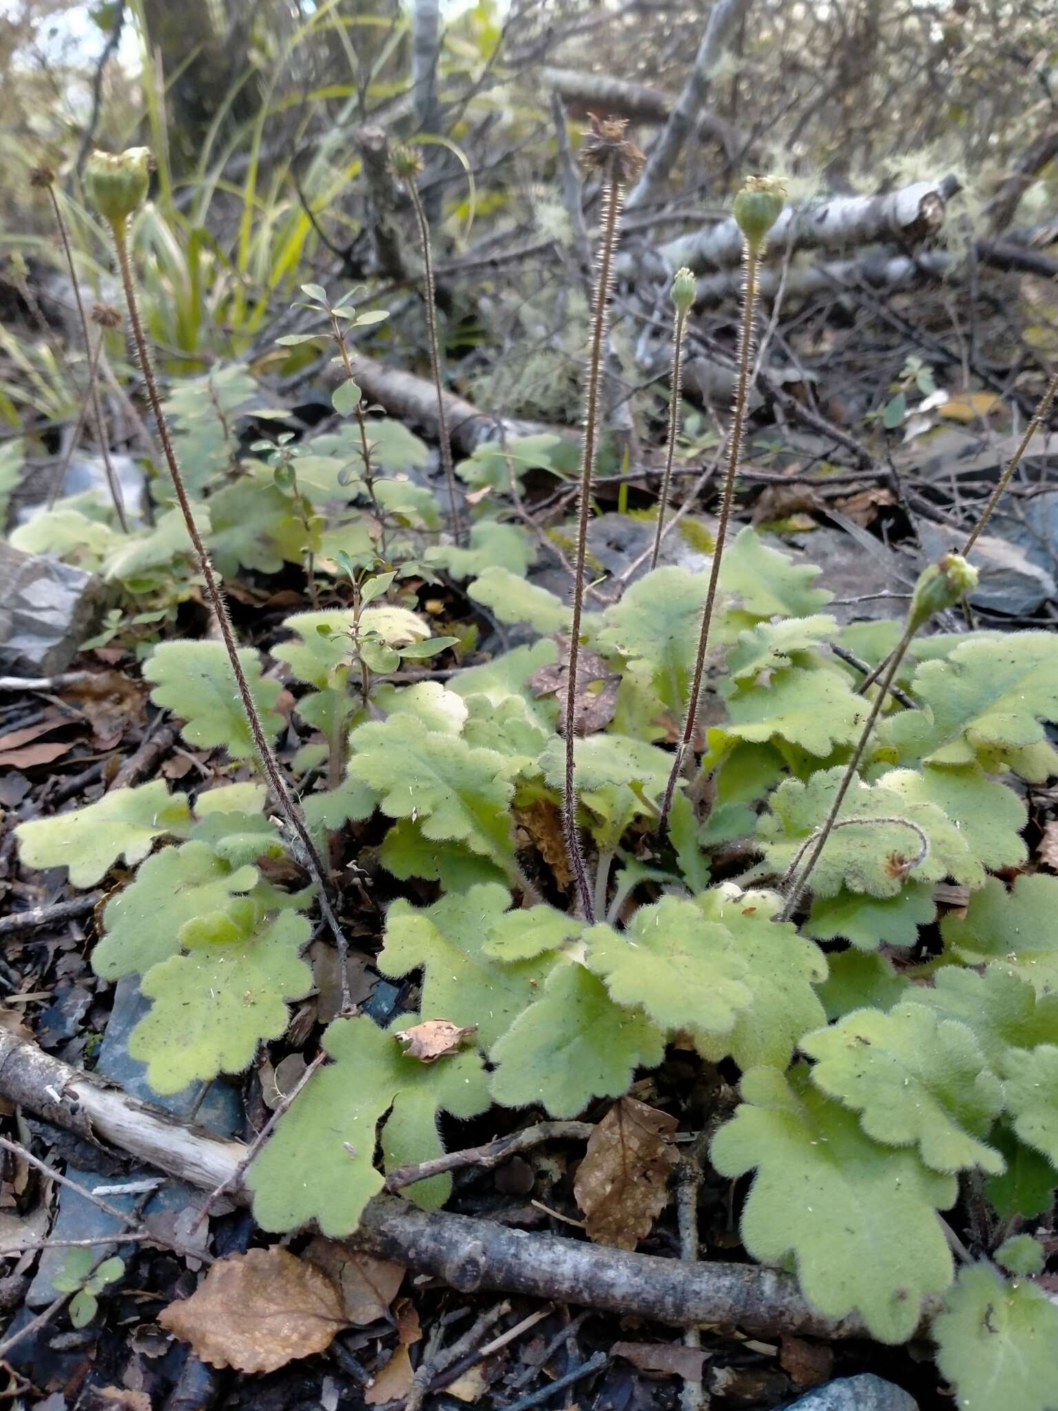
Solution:
{"label": "jagged gray rock at left edge beside the green leaves", "polygon": [[65,670],[92,632],[104,593],[90,573],[0,542],[0,672]]}

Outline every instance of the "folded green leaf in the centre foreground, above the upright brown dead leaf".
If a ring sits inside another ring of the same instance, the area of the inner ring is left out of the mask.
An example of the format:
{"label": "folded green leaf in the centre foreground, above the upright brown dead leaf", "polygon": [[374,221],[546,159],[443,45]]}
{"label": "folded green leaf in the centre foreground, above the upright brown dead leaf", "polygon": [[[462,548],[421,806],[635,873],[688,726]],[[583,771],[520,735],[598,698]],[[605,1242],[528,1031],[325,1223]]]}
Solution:
{"label": "folded green leaf in the centre foreground, above the upright brown dead leaf", "polygon": [[664,1036],[638,1009],[615,1005],[576,961],[557,961],[532,1009],[492,1046],[492,1096],[576,1118],[592,1098],[618,1098],[635,1070],[664,1054]]}

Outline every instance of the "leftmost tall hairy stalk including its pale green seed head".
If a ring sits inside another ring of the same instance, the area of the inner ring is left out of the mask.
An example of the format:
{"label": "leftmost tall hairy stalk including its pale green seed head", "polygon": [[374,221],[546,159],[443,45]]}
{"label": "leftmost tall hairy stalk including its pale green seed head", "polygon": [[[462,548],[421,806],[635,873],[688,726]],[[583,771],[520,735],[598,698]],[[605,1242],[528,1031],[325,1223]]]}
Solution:
{"label": "leftmost tall hairy stalk including its pale green seed head", "polygon": [[181,474],[179,464],[176,463],[172,437],[169,436],[169,426],[165,420],[165,413],[162,412],[158,384],[154,377],[154,364],[151,361],[147,337],[140,319],[140,303],[135,296],[135,282],[133,279],[133,264],[128,258],[127,237],[128,217],[147,196],[147,188],[150,183],[150,162],[151,154],[145,147],[133,147],[120,157],[111,157],[107,152],[93,152],[85,168],[85,189],[93,206],[102,216],[106,217],[114,237],[114,251],[117,254],[117,265],[121,274],[126,305],[128,308],[128,322],[133,329],[133,341],[135,344],[140,370],[147,388],[147,399],[151,404],[151,412],[158,428],[158,439],[161,440],[165,463],[172,478],[172,487],[176,492],[183,522],[188,526],[188,535],[190,536],[190,542],[195,547],[199,570],[202,571],[202,577],[206,584],[206,595],[210,600],[213,612],[217,618],[217,625],[220,626],[220,635],[231,663],[231,670],[236,676],[238,696],[243,701],[243,710],[245,711],[247,722],[250,724],[250,731],[254,737],[254,746],[261,761],[261,766],[268,777],[272,793],[275,794],[276,803],[279,804],[286,823],[291,825],[300,842],[305,864],[319,889],[320,910],[323,912],[323,917],[330,927],[339,951],[343,1009],[348,1009],[351,1007],[346,967],[348,945],[341,927],[339,926],[337,917],[330,907],[327,897],[327,872],[316,849],[316,844],[312,840],[312,834],[305,824],[302,811],[295,803],[291,790],[286,787],[286,780],[279,770],[279,763],[268,744],[261,725],[261,717],[258,715],[254,697],[250,691],[250,683],[245,679],[243,663],[238,659],[238,648],[236,643],[236,632],[231,625],[231,617],[229,614],[220,581],[213,570],[213,563],[210,562],[206,546],[202,542],[202,535],[195,523],[195,515],[190,508],[190,501],[188,499],[188,490],[183,484],[183,476]]}

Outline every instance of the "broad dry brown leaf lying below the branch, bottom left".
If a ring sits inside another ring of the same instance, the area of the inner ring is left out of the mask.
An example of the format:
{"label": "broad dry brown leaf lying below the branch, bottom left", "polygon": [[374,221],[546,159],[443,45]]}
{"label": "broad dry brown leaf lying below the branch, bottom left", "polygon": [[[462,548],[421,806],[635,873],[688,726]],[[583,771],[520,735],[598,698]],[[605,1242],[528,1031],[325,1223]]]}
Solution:
{"label": "broad dry brown leaf lying below the branch, bottom left", "polygon": [[158,1322],[213,1367],[275,1371],[324,1352],[346,1316],[327,1276],[274,1245],[217,1260]]}

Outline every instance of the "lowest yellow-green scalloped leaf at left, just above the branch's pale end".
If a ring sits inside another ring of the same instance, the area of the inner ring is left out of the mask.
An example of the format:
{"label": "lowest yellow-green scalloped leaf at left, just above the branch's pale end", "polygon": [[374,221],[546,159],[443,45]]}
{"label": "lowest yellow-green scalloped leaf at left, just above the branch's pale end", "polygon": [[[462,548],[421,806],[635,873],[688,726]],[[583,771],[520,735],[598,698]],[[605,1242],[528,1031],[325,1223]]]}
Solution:
{"label": "lowest yellow-green scalloped leaf at left, just above the branch's pale end", "polygon": [[282,912],[268,921],[248,897],[181,928],[185,954],[144,975],[140,988],[154,1005],[128,1038],[155,1092],[241,1072],[258,1043],[282,1036],[286,1002],[303,999],[313,985],[299,959],[310,934],[306,917]]}

